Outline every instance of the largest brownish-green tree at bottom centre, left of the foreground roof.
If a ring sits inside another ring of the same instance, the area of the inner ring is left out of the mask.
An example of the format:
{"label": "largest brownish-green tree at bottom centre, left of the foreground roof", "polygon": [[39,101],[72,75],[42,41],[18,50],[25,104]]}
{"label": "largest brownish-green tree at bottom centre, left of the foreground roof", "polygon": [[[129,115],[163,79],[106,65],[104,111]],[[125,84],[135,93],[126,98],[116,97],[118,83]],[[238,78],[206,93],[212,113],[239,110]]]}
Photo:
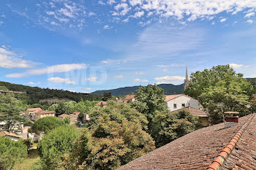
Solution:
{"label": "largest brownish-green tree at bottom centre, left of the foreground roof", "polygon": [[146,117],[129,105],[108,101],[90,117],[89,132],[78,140],[68,169],[116,169],[154,150],[154,140],[143,131]]}

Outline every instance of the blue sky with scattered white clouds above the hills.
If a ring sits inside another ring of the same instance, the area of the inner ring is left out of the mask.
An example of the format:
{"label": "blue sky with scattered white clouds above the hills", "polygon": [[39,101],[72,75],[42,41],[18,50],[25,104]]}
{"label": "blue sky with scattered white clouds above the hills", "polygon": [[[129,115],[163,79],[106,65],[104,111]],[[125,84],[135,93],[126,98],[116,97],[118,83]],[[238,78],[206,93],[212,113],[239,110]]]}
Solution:
{"label": "blue sky with scattered white clouds above the hills", "polygon": [[92,92],[181,84],[230,64],[256,77],[255,0],[0,1],[0,80]]}

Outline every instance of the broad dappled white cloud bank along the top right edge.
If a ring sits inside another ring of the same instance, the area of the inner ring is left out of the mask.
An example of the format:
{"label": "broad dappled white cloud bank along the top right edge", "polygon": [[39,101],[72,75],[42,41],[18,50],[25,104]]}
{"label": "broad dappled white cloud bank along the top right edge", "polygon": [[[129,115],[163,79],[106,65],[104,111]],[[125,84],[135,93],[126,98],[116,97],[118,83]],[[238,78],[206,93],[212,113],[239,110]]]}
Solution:
{"label": "broad dappled white cloud bank along the top right edge", "polygon": [[[256,3],[253,0],[127,0],[127,3],[121,1],[117,4],[115,9],[119,12],[119,9],[124,6],[125,9],[133,12],[132,15],[140,10],[144,10],[146,16],[150,16],[154,12],[154,18],[159,18],[159,20],[161,18],[177,18],[178,20],[183,18],[188,18],[188,20],[205,18],[210,20],[222,12],[232,12],[235,15],[247,8],[255,9]],[[123,13],[123,15],[127,15],[127,13]]]}

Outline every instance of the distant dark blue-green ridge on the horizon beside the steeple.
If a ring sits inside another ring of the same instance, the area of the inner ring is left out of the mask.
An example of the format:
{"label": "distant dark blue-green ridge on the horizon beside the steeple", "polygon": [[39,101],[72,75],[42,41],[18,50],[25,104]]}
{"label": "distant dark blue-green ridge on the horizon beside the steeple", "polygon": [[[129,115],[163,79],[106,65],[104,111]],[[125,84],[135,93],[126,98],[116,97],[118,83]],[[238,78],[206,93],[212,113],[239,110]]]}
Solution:
{"label": "distant dark blue-green ridge on the horizon beside the steeple", "polygon": [[[159,88],[163,88],[164,92],[166,95],[168,94],[180,94],[183,93],[184,90],[184,84],[181,85],[173,85],[173,84],[161,84],[158,85]],[[102,95],[105,92],[111,92],[113,96],[121,96],[121,95],[126,95],[129,93],[135,93],[135,91],[139,88],[140,86],[132,86],[132,87],[125,87],[125,88],[116,88],[112,90],[97,90],[94,91],[91,94],[98,94]]]}

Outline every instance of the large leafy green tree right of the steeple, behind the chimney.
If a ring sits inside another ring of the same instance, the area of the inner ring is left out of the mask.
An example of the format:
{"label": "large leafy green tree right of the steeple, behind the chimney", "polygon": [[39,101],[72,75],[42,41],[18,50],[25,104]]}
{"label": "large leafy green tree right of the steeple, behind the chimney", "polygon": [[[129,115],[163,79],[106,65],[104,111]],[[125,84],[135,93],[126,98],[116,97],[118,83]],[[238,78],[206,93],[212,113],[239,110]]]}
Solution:
{"label": "large leafy green tree right of the steeple, behind the chimney", "polygon": [[191,78],[184,93],[197,98],[208,109],[212,123],[222,122],[225,111],[249,114],[246,104],[252,99],[253,86],[229,65],[197,71]]}

